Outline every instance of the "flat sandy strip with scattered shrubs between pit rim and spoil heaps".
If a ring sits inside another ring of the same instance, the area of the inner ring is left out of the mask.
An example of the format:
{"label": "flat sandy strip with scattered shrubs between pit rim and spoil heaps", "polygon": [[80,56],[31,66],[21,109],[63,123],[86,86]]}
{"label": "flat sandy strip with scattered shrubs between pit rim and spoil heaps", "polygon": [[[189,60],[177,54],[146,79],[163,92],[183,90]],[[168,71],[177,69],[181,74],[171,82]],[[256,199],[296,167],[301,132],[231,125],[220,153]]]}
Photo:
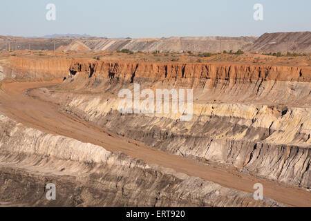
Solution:
{"label": "flat sandy strip with scattered shrubs between pit rim and spoil heaps", "polygon": [[[202,53],[201,53],[202,54]],[[135,52],[122,53],[115,51],[68,51],[68,52],[53,52],[53,51],[15,51],[8,53],[0,51],[0,59],[8,57],[29,57],[39,61],[40,59],[98,59],[100,61],[133,61],[133,62],[174,62],[174,63],[224,63],[224,64],[261,64],[273,66],[311,66],[311,53],[299,53],[299,56],[283,56],[276,57],[273,55],[263,55],[256,52],[245,52],[243,55],[229,55],[214,52],[211,56],[204,57],[200,53],[168,53],[161,52],[155,54],[152,52]]]}

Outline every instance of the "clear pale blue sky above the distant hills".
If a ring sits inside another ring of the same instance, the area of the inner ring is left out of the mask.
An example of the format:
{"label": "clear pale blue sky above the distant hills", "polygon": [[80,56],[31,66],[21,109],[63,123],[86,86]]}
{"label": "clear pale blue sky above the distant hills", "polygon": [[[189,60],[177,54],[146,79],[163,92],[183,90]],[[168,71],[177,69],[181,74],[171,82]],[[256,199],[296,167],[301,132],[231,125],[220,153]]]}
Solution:
{"label": "clear pale blue sky above the distant hills", "polygon": [[[46,5],[56,21],[46,20]],[[254,3],[263,21],[254,21]],[[259,36],[311,30],[310,0],[1,0],[0,35]]]}

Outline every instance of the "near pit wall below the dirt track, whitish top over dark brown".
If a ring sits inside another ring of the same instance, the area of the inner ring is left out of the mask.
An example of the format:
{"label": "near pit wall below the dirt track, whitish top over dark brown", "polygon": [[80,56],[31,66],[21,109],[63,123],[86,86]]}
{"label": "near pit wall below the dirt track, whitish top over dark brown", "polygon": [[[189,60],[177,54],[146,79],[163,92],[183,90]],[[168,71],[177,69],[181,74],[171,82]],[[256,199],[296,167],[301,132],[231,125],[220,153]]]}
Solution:
{"label": "near pit wall below the dirt track, whitish top over dark brown", "polygon": [[[0,132],[0,205],[285,206],[28,128],[1,114]],[[56,186],[56,200],[46,200],[48,183]]]}

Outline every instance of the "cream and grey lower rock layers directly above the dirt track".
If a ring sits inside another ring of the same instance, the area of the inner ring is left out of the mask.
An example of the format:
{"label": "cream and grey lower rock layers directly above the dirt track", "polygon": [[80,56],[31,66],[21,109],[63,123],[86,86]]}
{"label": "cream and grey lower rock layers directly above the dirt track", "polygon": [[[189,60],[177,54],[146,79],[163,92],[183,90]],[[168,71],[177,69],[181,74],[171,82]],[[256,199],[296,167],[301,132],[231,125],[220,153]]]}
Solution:
{"label": "cream and grey lower rock layers directly above the dirt track", "polygon": [[176,122],[164,117],[120,115],[117,111],[104,113],[91,108],[90,97],[84,97],[87,104],[76,106],[77,99],[67,111],[148,146],[196,160],[232,164],[245,173],[310,189],[310,138],[299,129],[288,134],[292,142],[298,142],[282,144],[278,139],[288,139],[285,131],[241,125],[241,118],[209,116],[206,122],[200,117]]}

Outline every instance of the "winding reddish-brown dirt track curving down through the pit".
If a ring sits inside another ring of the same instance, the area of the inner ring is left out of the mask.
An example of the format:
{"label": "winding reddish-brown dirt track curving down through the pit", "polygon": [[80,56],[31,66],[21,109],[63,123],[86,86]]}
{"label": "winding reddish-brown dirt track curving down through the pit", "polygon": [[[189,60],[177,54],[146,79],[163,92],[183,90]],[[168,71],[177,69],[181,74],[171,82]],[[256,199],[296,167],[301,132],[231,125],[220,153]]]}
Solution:
{"label": "winding reddish-brown dirt track curving down through the pit", "polygon": [[263,184],[264,195],[267,198],[291,206],[311,206],[311,193],[303,189],[259,180],[233,170],[218,169],[182,156],[154,150],[64,113],[56,104],[26,95],[26,90],[31,88],[54,86],[58,83],[59,80],[3,84],[0,90],[0,111],[26,126],[103,146],[107,151],[121,151],[131,157],[144,160],[147,164],[171,168],[177,172],[200,177],[232,189],[254,193],[254,184],[260,182]]}

